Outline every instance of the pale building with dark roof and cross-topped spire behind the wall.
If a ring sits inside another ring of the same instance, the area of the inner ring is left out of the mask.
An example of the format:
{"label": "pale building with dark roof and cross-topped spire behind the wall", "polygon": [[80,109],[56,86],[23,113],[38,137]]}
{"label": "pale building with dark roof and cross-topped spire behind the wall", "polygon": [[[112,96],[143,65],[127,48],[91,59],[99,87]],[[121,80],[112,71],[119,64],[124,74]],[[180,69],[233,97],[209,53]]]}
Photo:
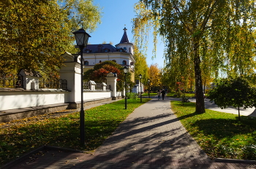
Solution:
{"label": "pale building with dark roof and cross-topped spire behind the wall", "polygon": [[135,58],[133,58],[134,46],[129,42],[127,28],[119,44],[88,44],[83,49],[84,71],[94,68],[97,63],[113,60],[121,66],[127,66],[132,74],[131,80],[135,82]]}

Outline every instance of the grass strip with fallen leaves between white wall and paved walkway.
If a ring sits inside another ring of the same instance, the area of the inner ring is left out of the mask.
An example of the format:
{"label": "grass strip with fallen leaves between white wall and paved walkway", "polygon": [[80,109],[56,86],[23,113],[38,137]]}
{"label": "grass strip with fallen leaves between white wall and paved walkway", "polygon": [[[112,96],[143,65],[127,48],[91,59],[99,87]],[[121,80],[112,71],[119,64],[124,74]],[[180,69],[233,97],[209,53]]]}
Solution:
{"label": "grass strip with fallen leaves between white wall and paved walkway", "polygon": [[[143,103],[150,99],[143,98]],[[79,112],[53,117],[45,114],[29,119],[0,123],[0,165],[42,145],[94,151],[138,106],[140,100],[127,99],[86,110],[86,146],[80,146]]]}

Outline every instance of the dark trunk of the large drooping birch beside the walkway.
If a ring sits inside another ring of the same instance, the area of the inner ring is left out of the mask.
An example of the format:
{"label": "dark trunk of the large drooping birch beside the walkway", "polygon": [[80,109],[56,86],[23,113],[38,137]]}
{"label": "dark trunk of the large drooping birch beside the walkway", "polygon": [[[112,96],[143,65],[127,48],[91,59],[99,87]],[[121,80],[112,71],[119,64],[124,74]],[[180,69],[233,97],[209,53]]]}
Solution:
{"label": "dark trunk of the large drooping birch beside the walkway", "polygon": [[196,106],[195,111],[197,113],[205,113],[205,101],[203,98],[203,84],[200,68],[200,56],[198,54],[199,44],[194,44],[194,66],[195,66],[195,95],[196,95]]}

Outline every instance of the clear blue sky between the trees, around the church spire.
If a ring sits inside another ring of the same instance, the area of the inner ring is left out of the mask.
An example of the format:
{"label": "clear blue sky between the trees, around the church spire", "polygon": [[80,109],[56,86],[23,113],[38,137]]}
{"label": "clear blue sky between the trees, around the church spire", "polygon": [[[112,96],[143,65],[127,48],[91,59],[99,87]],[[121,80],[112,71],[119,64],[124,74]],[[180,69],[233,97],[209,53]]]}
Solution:
{"label": "clear blue sky between the trees, around the church spire", "polygon": [[[134,42],[132,34],[132,18],[135,17],[134,4],[138,0],[94,0],[102,8],[102,23],[98,25],[96,31],[91,33],[90,44],[102,44],[102,42],[113,42],[116,45],[120,42],[124,34],[124,25],[127,28],[129,42]],[[163,44],[159,42],[157,47],[157,58],[151,59],[153,43],[148,43],[147,64],[157,63],[159,68],[163,68]]]}

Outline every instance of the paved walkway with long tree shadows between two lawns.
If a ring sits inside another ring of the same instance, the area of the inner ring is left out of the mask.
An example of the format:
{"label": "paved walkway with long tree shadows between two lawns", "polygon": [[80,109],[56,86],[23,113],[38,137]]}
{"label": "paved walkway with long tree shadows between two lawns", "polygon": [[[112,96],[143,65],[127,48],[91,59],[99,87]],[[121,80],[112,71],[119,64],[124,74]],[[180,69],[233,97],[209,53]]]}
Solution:
{"label": "paved walkway with long tree shadows between two lawns", "polygon": [[154,98],[135,109],[94,154],[48,150],[12,168],[241,169],[255,165],[210,160],[170,110],[170,98]]}

